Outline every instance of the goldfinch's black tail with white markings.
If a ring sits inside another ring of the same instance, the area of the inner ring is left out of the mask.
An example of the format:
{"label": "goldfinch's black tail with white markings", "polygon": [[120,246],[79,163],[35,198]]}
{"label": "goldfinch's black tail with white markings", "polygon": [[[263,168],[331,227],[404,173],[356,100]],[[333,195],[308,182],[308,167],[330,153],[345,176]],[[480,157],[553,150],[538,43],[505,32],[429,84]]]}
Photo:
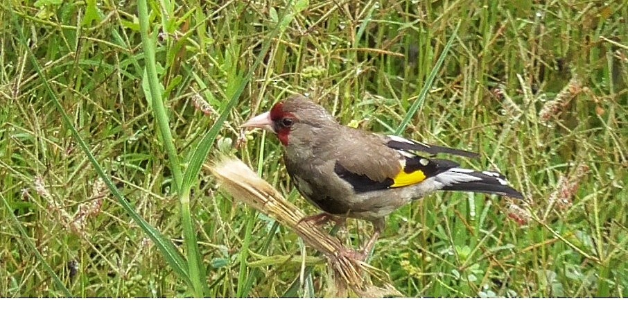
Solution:
{"label": "goldfinch's black tail with white markings", "polygon": [[437,175],[436,178],[444,184],[443,191],[471,191],[523,199],[521,193],[508,186],[506,177],[497,172],[455,168]]}

